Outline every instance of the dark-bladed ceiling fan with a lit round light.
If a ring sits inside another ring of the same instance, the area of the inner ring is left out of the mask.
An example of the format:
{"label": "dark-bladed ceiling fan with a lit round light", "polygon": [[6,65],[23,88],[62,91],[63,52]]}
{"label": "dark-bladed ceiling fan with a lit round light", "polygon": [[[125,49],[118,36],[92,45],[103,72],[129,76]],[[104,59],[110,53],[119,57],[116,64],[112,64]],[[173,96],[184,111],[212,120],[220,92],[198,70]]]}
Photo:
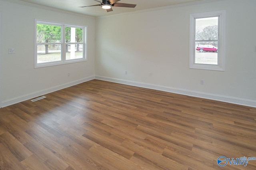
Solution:
{"label": "dark-bladed ceiling fan with a lit round light", "polygon": [[[98,0],[94,0],[97,2],[100,2]],[[124,3],[118,3],[118,1],[120,0],[102,0],[102,2],[100,2],[100,4],[97,5],[91,5],[91,6],[101,6],[103,9],[106,9],[107,12],[111,12],[112,10],[112,6],[115,7],[128,7],[128,8],[135,8],[136,4],[124,4]],[[88,7],[88,6],[79,6],[81,8],[84,7]]]}

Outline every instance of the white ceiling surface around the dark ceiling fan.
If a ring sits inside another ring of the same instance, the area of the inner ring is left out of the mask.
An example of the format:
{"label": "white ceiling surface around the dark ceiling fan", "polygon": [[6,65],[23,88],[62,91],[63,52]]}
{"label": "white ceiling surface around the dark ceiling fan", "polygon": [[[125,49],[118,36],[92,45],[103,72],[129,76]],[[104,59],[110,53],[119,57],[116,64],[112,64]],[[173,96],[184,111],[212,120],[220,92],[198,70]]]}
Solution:
{"label": "white ceiling surface around the dark ceiling fan", "polygon": [[[12,1],[18,1],[18,0],[12,0]],[[114,14],[120,14],[125,12],[152,9],[152,8],[159,8],[164,6],[185,4],[185,3],[197,2],[197,1],[205,2],[207,0],[120,0],[119,1],[120,3],[137,4],[137,6],[135,8],[112,7],[113,9],[112,12],[106,12],[106,10],[102,9],[100,6],[79,8],[79,6],[90,6],[90,5],[100,4],[99,2],[96,2],[94,0],[19,0],[19,1],[98,17],[98,16],[114,15]]]}

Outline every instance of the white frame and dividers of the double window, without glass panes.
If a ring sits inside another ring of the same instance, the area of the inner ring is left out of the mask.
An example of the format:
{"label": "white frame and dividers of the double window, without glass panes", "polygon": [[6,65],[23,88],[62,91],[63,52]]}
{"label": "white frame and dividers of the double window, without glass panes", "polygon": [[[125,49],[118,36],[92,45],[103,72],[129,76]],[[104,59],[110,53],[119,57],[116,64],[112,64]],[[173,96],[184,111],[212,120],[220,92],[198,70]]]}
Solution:
{"label": "white frame and dividers of the double window, without glass panes", "polygon": [[[49,24],[49,25],[56,25],[61,26],[61,42],[60,43],[37,43],[36,42],[36,25],[37,24]],[[39,67],[48,67],[53,65],[62,65],[62,64],[68,64],[68,63],[76,63],[76,62],[82,62],[87,61],[87,26],[85,25],[78,25],[78,24],[67,24],[62,22],[54,22],[54,21],[48,21],[48,20],[40,20],[35,19],[34,24],[34,68]],[[80,59],[68,59],[66,60],[66,44],[78,44],[78,43],[66,43],[65,42],[65,27],[75,27],[75,28],[82,28],[83,29],[83,42],[79,43],[83,45],[83,57]],[[61,60],[60,61],[52,61],[52,62],[46,62],[46,63],[37,63],[37,45],[38,44],[61,44]]]}

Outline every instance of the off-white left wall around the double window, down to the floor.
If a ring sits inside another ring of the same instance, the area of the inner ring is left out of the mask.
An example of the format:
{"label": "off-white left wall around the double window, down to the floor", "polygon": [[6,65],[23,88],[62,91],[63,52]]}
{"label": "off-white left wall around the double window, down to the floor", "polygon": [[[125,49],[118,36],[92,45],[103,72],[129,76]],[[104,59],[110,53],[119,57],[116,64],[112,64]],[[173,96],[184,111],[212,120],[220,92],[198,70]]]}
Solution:
{"label": "off-white left wall around the double window, down to the floor", "polygon": [[[94,79],[95,18],[0,0],[2,107]],[[34,19],[88,26],[88,61],[34,68]],[[15,54],[8,54],[14,48]],[[70,73],[70,77],[68,77]]]}

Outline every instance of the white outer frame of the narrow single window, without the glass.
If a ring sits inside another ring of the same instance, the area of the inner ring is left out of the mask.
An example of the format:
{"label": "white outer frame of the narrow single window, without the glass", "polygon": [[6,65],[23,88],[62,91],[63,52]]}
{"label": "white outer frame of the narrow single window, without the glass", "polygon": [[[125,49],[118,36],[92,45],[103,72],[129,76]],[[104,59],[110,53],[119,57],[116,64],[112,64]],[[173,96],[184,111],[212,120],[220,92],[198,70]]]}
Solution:
{"label": "white outer frame of the narrow single window, without the glass", "polygon": [[[203,12],[190,14],[190,69],[206,69],[215,71],[225,71],[225,15],[226,12],[215,11],[215,12]],[[195,33],[196,33],[196,19],[198,18],[208,18],[208,17],[218,17],[218,65],[210,64],[196,64],[195,63]]]}

